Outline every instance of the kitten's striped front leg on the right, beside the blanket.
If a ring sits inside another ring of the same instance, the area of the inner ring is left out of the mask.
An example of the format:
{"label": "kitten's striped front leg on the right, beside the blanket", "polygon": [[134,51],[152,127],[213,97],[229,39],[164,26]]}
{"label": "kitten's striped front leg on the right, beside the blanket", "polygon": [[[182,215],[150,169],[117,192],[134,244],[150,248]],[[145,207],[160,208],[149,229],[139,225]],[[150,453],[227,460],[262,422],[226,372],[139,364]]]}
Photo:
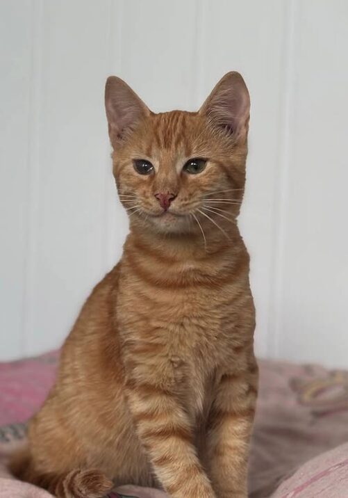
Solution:
{"label": "kitten's striped front leg on the right, beside the blanket", "polygon": [[247,498],[249,440],[256,407],[258,368],[226,371],[208,424],[209,476],[219,498]]}

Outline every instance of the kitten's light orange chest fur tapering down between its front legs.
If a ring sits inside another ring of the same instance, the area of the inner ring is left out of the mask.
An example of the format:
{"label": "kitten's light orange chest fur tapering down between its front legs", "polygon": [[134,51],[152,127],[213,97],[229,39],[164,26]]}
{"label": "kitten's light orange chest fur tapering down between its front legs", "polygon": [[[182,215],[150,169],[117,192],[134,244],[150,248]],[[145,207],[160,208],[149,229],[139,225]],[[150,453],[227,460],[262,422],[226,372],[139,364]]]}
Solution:
{"label": "kitten's light orange chest fur tapering down between its front legs", "polygon": [[231,349],[233,303],[228,294],[209,287],[156,289],[129,281],[120,289],[117,314],[122,342],[142,355],[135,360],[164,376],[192,419],[204,420],[217,370]]}

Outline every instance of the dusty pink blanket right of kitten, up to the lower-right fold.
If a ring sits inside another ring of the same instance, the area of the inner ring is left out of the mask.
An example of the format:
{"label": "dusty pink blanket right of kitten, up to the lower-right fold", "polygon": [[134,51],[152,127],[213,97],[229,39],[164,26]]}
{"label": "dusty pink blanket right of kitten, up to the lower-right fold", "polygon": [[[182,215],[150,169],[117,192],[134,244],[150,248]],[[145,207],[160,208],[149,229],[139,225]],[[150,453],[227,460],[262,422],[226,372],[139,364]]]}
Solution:
{"label": "dusty pink blanket right of kitten, up to the lower-right fold", "polygon": [[348,442],[347,378],[317,365],[260,362],[251,498],[269,497],[311,458]]}

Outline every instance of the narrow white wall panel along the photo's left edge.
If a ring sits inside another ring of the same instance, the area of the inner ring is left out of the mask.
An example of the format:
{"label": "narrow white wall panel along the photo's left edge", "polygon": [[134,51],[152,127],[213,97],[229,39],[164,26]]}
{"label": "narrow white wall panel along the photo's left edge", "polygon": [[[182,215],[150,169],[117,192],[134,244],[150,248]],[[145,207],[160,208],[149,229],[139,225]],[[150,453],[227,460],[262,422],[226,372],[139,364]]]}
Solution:
{"label": "narrow white wall panel along the photo's left edge", "polygon": [[24,352],[32,27],[31,1],[0,3],[0,358]]}

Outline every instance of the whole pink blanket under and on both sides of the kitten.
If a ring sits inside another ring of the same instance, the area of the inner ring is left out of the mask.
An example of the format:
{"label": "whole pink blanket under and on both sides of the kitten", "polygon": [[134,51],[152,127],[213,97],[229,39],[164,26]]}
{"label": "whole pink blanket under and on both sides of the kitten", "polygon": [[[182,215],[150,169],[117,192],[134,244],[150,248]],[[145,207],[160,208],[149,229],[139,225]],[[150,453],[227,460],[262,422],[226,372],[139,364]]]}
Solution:
{"label": "whole pink blanket under and on both sides of the kitten", "polygon": [[[24,437],[24,426],[15,423],[31,417],[47,395],[57,356],[54,352],[0,364],[0,426],[12,424],[0,429],[0,498],[50,497],[43,490],[11,479],[6,474],[6,458]],[[348,444],[335,448],[347,441],[347,372],[260,362],[250,498],[345,497],[336,488],[339,483],[348,488]],[[333,451],[325,453],[328,450]],[[311,460],[313,457],[317,458]],[[318,491],[320,487],[325,491]],[[130,487],[122,492],[141,498],[165,497],[163,492],[144,488]]]}

